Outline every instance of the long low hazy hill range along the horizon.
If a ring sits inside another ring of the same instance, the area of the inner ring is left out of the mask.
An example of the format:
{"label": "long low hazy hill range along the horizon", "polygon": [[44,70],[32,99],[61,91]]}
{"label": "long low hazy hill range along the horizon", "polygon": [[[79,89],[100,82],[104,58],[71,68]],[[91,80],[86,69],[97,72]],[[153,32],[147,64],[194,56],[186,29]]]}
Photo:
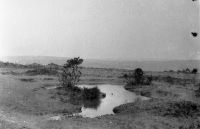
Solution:
{"label": "long low hazy hill range along the horizon", "polygon": [[[9,61],[20,64],[38,63],[47,65],[55,63],[63,65],[69,58],[50,57],[50,56],[12,56],[2,61]],[[185,68],[198,68],[200,70],[200,60],[171,60],[171,61],[111,61],[86,59],[82,64],[84,67],[94,68],[118,68],[118,69],[135,69],[140,67],[145,71],[164,71],[164,70],[182,70]]]}

